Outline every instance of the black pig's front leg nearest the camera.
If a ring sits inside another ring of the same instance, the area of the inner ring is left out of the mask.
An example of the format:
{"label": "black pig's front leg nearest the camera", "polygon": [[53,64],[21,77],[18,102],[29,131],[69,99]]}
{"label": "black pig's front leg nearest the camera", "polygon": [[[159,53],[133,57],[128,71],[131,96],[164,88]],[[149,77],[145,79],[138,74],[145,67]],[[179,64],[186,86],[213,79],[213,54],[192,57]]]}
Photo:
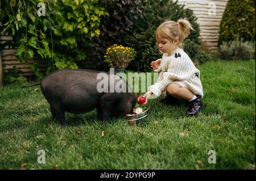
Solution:
{"label": "black pig's front leg nearest the camera", "polygon": [[100,104],[97,107],[97,116],[102,121],[110,119],[111,110],[117,103],[119,95],[116,93],[105,93],[101,96]]}

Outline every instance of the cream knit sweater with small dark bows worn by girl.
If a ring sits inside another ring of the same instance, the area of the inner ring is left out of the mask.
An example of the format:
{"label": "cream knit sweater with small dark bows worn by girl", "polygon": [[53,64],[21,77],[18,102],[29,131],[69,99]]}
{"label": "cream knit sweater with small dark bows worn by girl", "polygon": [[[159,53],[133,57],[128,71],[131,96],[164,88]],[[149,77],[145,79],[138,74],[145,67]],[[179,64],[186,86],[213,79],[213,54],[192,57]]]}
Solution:
{"label": "cream knit sweater with small dark bows worn by girl", "polygon": [[[175,58],[175,54],[180,54],[180,57],[176,56]],[[193,92],[193,94],[200,95],[203,98],[200,71],[183,49],[176,49],[170,54],[164,53],[159,68],[154,71],[160,72],[158,82],[149,86],[148,90],[155,96],[166,96],[166,87],[168,84],[177,83]]]}

